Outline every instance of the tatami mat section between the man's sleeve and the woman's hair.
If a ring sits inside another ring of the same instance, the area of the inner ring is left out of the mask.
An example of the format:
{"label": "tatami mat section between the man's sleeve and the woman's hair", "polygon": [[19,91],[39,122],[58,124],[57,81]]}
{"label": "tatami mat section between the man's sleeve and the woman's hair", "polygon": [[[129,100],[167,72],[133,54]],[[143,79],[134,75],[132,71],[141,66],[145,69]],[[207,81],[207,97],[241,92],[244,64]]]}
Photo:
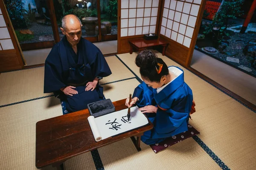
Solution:
{"label": "tatami mat section between the man's sleeve and the woman's hair", "polygon": [[131,71],[129,71],[116,56],[105,57],[105,59],[108,62],[112,74],[100,80],[100,84],[134,77]]}

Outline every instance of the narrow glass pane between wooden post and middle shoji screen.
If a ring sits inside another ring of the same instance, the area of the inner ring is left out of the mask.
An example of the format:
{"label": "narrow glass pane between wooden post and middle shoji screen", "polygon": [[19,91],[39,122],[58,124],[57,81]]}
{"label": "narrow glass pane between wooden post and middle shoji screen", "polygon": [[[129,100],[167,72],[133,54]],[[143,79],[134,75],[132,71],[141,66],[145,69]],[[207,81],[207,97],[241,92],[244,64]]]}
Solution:
{"label": "narrow glass pane between wooden post and middle shoji screen", "polygon": [[117,34],[117,0],[100,0],[102,35]]}

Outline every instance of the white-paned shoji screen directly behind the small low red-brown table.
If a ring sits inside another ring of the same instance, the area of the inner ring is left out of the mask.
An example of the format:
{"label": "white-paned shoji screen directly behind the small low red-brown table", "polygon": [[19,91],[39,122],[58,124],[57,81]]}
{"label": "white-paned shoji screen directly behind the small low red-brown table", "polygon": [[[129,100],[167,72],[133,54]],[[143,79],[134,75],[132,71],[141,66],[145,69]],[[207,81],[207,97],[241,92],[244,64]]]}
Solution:
{"label": "white-paned shoji screen directly behind the small low red-brown table", "polygon": [[160,0],[119,0],[118,3],[118,53],[125,53],[129,52],[129,40],[157,33]]}

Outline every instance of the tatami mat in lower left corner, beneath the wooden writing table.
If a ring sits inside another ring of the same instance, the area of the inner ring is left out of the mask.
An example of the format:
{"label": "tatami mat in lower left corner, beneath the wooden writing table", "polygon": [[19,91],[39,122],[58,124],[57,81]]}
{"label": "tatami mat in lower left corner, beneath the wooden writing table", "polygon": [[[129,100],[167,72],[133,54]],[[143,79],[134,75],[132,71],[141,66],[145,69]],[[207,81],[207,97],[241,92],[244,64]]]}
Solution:
{"label": "tatami mat in lower left corner, beneath the wooden writing table", "polygon": [[[0,169],[36,170],[35,124],[60,115],[60,101],[55,97],[0,108]],[[66,170],[95,169],[90,153],[66,161],[65,167]],[[51,169],[51,166],[44,168]]]}

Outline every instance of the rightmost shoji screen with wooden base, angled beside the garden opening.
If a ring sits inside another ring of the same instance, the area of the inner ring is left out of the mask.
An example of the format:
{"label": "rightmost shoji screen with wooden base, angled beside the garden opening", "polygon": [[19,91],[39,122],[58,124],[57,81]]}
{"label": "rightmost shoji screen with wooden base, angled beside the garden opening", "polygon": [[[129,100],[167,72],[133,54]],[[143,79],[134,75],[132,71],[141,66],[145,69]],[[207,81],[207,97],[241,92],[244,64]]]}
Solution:
{"label": "rightmost shoji screen with wooden base, angled beside the garden opening", "polygon": [[[169,40],[166,54],[188,65],[202,18],[206,0],[165,0],[163,3],[161,37]],[[198,28],[196,26],[198,25]]]}

